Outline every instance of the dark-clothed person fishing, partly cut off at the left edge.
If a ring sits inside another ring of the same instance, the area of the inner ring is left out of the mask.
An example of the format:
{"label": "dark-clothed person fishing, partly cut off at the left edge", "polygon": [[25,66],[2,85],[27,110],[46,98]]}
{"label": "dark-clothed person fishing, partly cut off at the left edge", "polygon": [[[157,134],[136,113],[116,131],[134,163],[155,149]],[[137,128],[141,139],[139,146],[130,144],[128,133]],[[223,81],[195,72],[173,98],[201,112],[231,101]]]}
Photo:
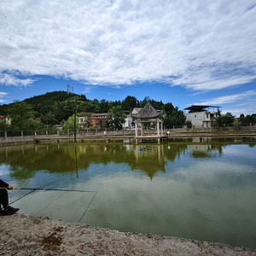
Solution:
{"label": "dark-clothed person fishing, partly cut off at the left edge", "polygon": [[2,179],[0,179],[0,216],[11,215],[20,210],[19,208],[9,206],[7,189],[15,189],[15,187],[10,186],[8,183],[5,183]]}

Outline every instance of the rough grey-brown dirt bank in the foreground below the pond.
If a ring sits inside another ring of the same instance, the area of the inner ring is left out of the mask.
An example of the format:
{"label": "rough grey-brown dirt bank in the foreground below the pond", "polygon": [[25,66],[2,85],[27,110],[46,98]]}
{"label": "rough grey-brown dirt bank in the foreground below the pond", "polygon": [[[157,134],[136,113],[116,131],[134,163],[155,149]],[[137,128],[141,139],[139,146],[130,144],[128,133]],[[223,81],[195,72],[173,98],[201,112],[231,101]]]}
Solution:
{"label": "rough grey-brown dirt bank in the foreground below the pond", "polygon": [[23,214],[0,216],[1,255],[256,255],[243,247],[68,224]]}

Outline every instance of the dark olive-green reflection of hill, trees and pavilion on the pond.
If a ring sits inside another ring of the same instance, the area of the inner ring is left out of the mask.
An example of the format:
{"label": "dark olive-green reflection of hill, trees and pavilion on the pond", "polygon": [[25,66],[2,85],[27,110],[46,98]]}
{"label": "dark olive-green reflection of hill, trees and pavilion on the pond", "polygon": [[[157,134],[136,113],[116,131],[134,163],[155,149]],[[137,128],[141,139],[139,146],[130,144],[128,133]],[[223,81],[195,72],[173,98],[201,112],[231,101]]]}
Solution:
{"label": "dark olive-green reflection of hill, trees and pavilion on the pond", "polygon": [[166,162],[190,152],[194,158],[214,157],[222,153],[224,145],[153,145],[151,150],[125,144],[107,145],[26,145],[0,149],[0,163],[9,165],[12,177],[27,179],[38,170],[49,172],[78,172],[91,164],[124,163],[131,170],[144,172],[151,179],[157,172],[165,172]]}

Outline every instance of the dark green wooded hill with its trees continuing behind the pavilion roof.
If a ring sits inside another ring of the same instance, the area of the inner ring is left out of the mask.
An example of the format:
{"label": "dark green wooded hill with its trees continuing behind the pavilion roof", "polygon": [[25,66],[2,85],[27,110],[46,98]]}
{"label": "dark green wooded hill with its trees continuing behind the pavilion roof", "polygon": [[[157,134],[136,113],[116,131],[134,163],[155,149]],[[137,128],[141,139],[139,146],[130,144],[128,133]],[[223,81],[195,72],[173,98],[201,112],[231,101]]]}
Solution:
{"label": "dark green wooded hill with its trees continuing behind the pavilion roof", "polygon": [[[145,97],[143,101],[138,101],[134,96],[127,96],[124,101],[108,102],[106,100],[98,101],[88,100],[84,95],[77,95],[67,91],[48,92],[41,96],[33,96],[22,102],[14,102],[0,106],[0,114],[9,115],[13,124],[18,124],[20,119],[25,124],[25,120],[31,120],[33,125],[55,125],[63,123],[73,113],[114,113],[123,111],[129,113],[133,108],[143,108],[146,102],[158,110],[164,110],[166,113],[166,127],[171,125],[183,125],[185,117],[183,111],[174,108],[172,103],[156,102]],[[17,129],[25,129],[24,124],[19,125]],[[27,126],[27,125],[25,125]]]}

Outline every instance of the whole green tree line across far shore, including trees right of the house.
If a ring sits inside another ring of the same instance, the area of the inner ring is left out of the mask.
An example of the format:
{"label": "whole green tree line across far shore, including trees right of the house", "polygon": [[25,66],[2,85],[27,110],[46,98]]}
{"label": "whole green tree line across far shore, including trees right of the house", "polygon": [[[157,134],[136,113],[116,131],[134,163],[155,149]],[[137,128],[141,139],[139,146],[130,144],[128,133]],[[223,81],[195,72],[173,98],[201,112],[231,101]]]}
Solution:
{"label": "whole green tree line across far shore, including trees right of the house", "polygon": [[[22,102],[13,102],[0,106],[0,114],[7,119],[0,120],[0,131],[35,131],[41,129],[54,130],[55,125],[61,124],[64,129],[73,130],[75,120],[79,116],[86,118],[90,128],[91,113],[108,113],[108,120],[102,120],[98,128],[122,129],[127,113],[133,108],[143,108],[147,102],[165,113],[164,126],[170,129],[173,126],[191,125],[186,121],[182,110],[172,105],[172,102],[158,102],[145,97],[138,101],[135,96],[126,96],[123,101],[108,102],[88,100],[84,95],[77,95],[67,91],[48,92],[42,96],[33,96]],[[230,125],[255,125],[256,114],[245,116],[241,114],[235,119],[232,113],[222,114],[219,110],[214,125],[218,127]],[[149,123],[144,125],[150,125]]]}

